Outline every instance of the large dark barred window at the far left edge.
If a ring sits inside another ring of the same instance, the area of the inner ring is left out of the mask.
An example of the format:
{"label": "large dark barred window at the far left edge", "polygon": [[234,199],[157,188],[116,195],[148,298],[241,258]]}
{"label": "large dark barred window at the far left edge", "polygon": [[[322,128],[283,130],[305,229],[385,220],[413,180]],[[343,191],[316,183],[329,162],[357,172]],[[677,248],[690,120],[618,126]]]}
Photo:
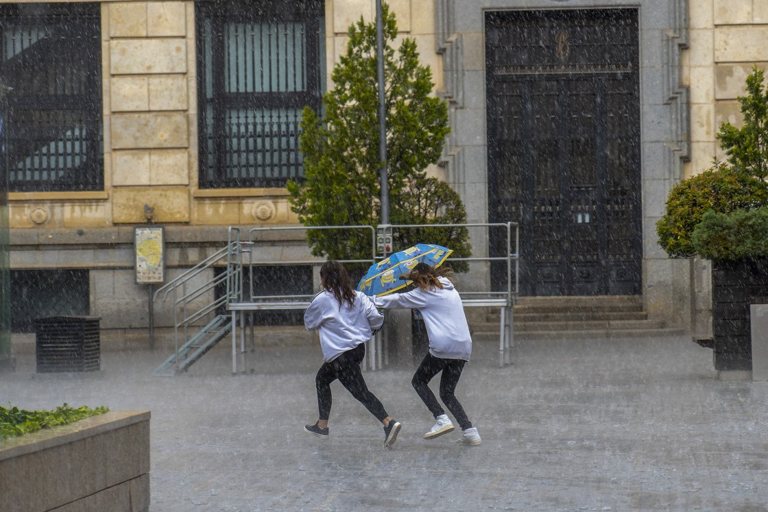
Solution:
{"label": "large dark barred window at the far left edge", "polygon": [[98,3],[0,5],[8,190],[103,190]]}

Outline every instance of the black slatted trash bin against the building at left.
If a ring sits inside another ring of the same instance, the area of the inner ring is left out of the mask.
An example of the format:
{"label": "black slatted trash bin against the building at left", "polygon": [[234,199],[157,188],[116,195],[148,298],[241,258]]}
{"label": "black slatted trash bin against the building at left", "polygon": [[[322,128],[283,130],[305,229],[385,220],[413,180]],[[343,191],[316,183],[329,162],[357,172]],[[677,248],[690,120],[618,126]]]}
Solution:
{"label": "black slatted trash bin against the building at left", "polygon": [[35,319],[38,373],[95,372],[101,367],[99,316]]}

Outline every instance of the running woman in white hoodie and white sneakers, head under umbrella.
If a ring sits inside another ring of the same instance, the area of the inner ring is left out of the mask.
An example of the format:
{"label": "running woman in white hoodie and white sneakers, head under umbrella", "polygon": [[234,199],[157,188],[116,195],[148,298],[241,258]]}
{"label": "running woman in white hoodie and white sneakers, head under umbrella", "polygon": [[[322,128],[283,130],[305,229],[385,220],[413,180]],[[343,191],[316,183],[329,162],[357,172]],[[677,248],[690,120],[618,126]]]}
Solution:
{"label": "running woman in white hoodie and white sneakers, head under umbrella", "polygon": [[[441,269],[440,274],[447,273],[449,269]],[[472,338],[469,335],[462,299],[458,296],[453,282],[440,274],[432,266],[418,263],[408,276],[415,289],[406,293],[376,297],[374,302],[376,306],[384,309],[419,309],[424,318],[429,336],[429,352],[424,356],[411,381],[416,393],[435,416],[435,425],[424,434],[424,438],[434,439],[453,431],[453,423],[429,389],[429,381],[442,372],[440,398],[464,431],[456,442],[477,445],[482,443],[480,434],[477,428],[472,427],[472,422],[454,395],[464,364],[472,355]]]}

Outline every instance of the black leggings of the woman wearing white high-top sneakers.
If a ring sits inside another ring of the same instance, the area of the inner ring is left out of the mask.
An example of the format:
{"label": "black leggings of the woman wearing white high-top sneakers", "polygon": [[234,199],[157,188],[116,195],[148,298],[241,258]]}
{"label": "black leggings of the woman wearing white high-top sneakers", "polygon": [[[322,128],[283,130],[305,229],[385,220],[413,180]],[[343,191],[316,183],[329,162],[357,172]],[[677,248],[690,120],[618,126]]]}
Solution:
{"label": "black leggings of the woman wearing white high-top sneakers", "polygon": [[472,422],[467,418],[464,408],[458,403],[453,392],[456,390],[458,378],[462,376],[464,363],[463,359],[436,358],[427,352],[427,355],[422,359],[422,364],[419,365],[419,368],[416,368],[411,381],[413,388],[419,393],[422,401],[424,401],[424,405],[437,418],[439,415],[444,415],[445,411],[440,407],[435,394],[429,389],[429,381],[442,371],[442,376],[440,377],[440,399],[445,404],[445,407],[451,411],[453,417],[456,418],[458,426],[462,430],[472,428]]}

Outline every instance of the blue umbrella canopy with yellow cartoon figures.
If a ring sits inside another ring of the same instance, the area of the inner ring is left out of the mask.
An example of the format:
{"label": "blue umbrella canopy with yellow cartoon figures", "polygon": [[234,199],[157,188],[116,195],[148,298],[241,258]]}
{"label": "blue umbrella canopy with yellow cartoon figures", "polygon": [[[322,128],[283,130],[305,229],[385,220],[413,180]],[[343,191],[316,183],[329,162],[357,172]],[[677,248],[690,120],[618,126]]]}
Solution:
{"label": "blue umbrella canopy with yellow cartoon figures", "polygon": [[440,266],[451,253],[452,249],[433,243],[417,243],[409,249],[393,253],[379,263],[374,263],[360,279],[357,289],[367,296],[382,296],[395,292],[410,284],[410,281],[399,278],[410,273],[416,263]]}

